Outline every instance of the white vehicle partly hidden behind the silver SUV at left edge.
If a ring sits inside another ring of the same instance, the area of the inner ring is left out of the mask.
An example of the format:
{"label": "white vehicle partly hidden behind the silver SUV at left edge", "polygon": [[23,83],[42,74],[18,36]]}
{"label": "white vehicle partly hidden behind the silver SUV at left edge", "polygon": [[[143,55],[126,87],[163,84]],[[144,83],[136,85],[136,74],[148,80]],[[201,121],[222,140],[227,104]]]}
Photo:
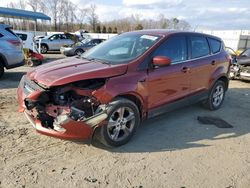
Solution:
{"label": "white vehicle partly hidden behind the silver SUV at left edge", "polygon": [[14,31],[15,34],[23,41],[23,48],[33,50],[34,33],[27,31]]}

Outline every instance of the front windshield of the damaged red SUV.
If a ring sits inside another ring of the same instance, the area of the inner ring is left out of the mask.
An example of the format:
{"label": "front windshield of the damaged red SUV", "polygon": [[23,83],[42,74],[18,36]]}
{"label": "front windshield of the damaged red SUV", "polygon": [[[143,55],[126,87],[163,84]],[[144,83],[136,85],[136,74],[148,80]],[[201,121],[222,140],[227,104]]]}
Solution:
{"label": "front windshield of the damaged red SUV", "polygon": [[160,36],[143,34],[118,35],[85,52],[82,58],[110,64],[128,63],[141,56],[159,39]]}

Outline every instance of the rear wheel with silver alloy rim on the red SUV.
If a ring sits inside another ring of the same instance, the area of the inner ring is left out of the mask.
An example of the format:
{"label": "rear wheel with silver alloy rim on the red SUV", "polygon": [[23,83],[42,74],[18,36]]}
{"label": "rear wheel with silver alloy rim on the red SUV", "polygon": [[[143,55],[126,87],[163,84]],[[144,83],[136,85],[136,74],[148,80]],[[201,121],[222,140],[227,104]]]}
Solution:
{"label": "rear wheel with silver alloy rim on the red SUV", "polygon": [[218,110],[223,104],[226,92],[225,82],[218,80],[209,92],[207,101],[204,103],[209,110]]}

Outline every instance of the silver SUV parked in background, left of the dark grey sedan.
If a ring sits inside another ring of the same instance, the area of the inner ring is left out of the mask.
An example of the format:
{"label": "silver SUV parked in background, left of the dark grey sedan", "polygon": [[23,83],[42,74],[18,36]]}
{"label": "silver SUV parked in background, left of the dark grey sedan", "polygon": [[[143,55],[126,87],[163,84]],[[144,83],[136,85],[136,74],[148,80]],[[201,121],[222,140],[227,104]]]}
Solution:
{"label": "silver SUV parked in background, left of the dark grey sedan", "polygon": [[[59,51],[64,45],[72,45],[76,41],[72,40],[71,35],[68,34],[52,34],[45,36],[41,40],[41,53],[45,54],[48,51]],[[36,41],[37,45],[39,40]]]}

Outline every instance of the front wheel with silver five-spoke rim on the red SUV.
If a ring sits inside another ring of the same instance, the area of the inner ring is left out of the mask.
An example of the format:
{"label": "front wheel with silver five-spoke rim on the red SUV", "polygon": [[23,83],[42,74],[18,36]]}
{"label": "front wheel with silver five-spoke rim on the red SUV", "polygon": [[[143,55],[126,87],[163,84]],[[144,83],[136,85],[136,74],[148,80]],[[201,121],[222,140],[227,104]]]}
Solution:
{"label": "front wheel with silver five-spoke rim on the red SUV", "polygon": [[130,100],[117,98],[110,103],[107,111],[107,124],[97,128],[96,138],[108,147],[126,144],[140,124],[138,107]]}

